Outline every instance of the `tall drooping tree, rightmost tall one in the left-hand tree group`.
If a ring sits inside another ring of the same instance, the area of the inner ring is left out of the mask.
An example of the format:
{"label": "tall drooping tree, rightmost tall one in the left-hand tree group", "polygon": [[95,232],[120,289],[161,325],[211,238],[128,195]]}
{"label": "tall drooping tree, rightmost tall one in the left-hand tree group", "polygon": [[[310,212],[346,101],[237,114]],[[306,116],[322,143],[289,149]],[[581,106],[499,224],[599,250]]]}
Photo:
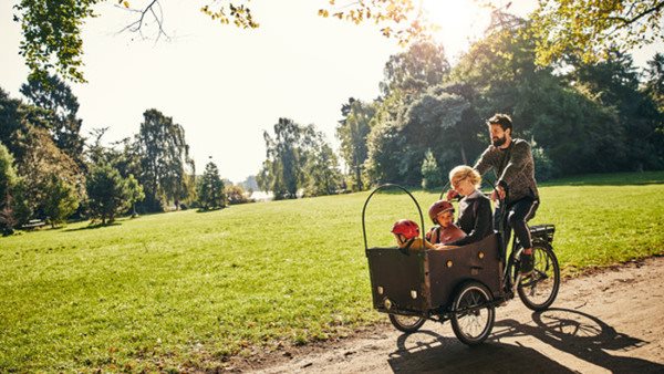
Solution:
{"label": "tall drooping tree, rightmost tall one in the left-hand tree group", "polygon": [[186,176],[195,174],[185,129],[157,110],[145,111],[143,117],[137,136],[138,180],[145,189],[147,209],[162,210],[163,201],[174,201],[178,209],[190,189]]}

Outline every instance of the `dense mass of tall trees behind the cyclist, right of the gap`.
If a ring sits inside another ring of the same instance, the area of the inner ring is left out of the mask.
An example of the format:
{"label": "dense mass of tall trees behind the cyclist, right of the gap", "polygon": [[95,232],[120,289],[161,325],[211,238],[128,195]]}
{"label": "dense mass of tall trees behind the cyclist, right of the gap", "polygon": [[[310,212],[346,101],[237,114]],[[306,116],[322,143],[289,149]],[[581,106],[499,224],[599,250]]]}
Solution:
{"label": "dense mass of tall trees behind the cyclist, right of the gap", "polygon": [[530,21],[496,12],[485,37],[452,66],[442,45],[413,43],[390,58],[381,95],[350,98],[336,129],[346,185],[439,187],[489,144],[486,118],[509,113],[530,141],[539,179],[664,168],[664,55],[637,70],[619,48],[536,63]]}

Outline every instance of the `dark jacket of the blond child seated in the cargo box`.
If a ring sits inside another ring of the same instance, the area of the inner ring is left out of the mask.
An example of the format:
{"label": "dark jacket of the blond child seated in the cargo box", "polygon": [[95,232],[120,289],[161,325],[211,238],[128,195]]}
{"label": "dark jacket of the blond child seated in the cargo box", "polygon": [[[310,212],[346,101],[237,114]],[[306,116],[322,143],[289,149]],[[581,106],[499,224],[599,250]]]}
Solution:
{"label": "dark jacket of the blond child seated in the cargo box", "polygon": [[465,246],[479,241],[494,232],[491,201],[484,194],[467,196],[459,201],[459,219],[456,224],[468,236],[449,246]]}

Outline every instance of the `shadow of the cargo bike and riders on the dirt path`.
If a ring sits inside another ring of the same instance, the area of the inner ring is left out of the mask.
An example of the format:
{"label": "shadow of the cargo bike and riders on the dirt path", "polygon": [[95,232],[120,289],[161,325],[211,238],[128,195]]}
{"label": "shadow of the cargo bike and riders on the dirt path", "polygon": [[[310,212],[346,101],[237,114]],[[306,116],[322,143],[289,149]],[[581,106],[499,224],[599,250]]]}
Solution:
{"label": "shadow of the cargo bike and riders on the dirt path", "polygon": [[[455,337],[442,336],[432,331],[401,335],[397,350],[390,354],[388,363],[395,373],[405,372],[536,372],[577,373],[540,352],[561,351],[585,363],[610,372],[662,373],[664,365],[624,354],[649,342],[615,331],[600,319],[568,309],[551,309],[532,314],[532,324],[515,320],[496,322],[487,342],[468,347]],[[422,335],[429,335],[424,336]],[[430,337],[434,337],[434,341]],[[543,343],[526,346],[513,337],[532,336]],[[512,339],[509,343],[501,339]],[[406,347],[406,342],[413,340]],[[422,343],[417,341],[427,340]],[[560,356],[560,355],[558,355]]]}

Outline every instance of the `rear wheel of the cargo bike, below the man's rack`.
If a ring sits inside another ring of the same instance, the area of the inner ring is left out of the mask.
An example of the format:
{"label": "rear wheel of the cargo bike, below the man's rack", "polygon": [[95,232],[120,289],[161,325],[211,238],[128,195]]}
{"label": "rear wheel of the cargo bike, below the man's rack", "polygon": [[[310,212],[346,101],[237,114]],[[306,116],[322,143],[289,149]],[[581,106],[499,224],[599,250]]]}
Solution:
{"label": "rear wheel of the cargo bike, below the man's rack", "polygon": [[517,291],[519,298],[533,311],[544,310],[553,303],[560,288],[560,268],[549,243],[535,242],[532,246],[533,270],[521,278]]}

